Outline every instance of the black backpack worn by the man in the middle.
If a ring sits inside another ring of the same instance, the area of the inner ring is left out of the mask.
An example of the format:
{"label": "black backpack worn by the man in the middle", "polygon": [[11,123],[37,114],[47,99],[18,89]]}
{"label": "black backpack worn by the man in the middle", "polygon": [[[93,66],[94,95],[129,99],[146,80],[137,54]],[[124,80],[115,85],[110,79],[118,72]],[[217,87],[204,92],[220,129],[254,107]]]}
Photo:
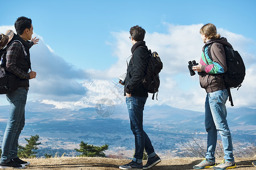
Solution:
{"label": "black backpack worn by the man in the middle", "polygon": [[[139,48],[147,50],[144,46],[139,46]],[[144,73],[142,84],[148,93],[153,94],[152,100],[154,100],[155,93],[158,92],[160,86],[159,73],[163,69],[163,63],[157,52],[151,53],[151,50],[148,50],[148,53],[147,68]],[[158,100],[157,96],[158,94],[156,94],[156,100]]]}

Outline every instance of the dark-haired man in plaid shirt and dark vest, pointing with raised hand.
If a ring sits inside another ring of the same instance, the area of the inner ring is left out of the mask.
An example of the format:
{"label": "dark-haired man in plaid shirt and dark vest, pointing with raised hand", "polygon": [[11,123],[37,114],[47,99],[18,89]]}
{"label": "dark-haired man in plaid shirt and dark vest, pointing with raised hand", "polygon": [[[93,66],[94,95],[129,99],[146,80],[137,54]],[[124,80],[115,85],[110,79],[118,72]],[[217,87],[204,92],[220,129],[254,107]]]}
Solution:
{"label": "dark-haired man in plaid shirt and dark vest, pointing with raised hand", "polygon": [[[2,142],[2,155],[0,169],[15,168],[23,169],[30,164],[18,158],[18,139],[25,124],[25,105],[29,79],[36,77],[35,71],[31,69],[30,51],[32,45],[38,44],[39,39],[31,39],[33,26],[31,19],[24,16],[19,17],[15,22],[17,35],[7,44],[6,70],[20,79],[19,87],[6,98],[10,103],[10,116],[7,122]],[[10,33],[7,31],[7,34]],[[28,41],[31,40],[31,41]]]}

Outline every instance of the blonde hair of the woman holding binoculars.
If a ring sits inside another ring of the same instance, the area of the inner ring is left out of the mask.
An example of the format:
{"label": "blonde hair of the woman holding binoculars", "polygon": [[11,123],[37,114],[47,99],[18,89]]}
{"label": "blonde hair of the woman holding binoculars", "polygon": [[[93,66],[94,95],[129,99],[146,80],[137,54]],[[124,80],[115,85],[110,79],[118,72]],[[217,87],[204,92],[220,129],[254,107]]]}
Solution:
{"label": "blonde hair of the woman holding binoculars", "polygon": [[200,29],[200,33],[208,37],[208,39],[220,39],[220,34],[217,34],[215,25],[208,23]]}

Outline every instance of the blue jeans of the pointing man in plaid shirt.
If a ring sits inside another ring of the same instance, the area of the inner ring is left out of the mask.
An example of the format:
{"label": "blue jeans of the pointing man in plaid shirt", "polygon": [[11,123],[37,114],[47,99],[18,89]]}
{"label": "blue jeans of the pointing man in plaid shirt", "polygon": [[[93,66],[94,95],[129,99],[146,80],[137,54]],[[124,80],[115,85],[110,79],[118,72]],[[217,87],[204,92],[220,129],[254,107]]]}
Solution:
{"label": "blue jeans of the pointing man in plaid shirt", "polygon": [[14,92],[6,94],[10,103],[10,115],[7,122],[2,142],[1,162],[8,163],[11,159],[18,158],[19,135],[25,125],[25,105],[27,101],[27,90],[19,87]]}

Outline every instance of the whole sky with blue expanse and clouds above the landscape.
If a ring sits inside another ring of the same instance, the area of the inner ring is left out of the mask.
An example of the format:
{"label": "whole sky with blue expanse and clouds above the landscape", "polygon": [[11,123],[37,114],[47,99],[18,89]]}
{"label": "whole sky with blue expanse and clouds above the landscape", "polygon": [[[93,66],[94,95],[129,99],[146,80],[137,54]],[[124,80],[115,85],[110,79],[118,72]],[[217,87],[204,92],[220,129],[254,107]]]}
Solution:
{"label": "whole sky with blue expanse and clouds above the landscape", "polygon": [[[252,76],[251,81],[254,80],[256,1],[253,0],[46,0],[22,3],[13,1],[12,4],[10,11],[10,3],[1,2],[0,32],[5,33],[7,28],[11,28],[19,16],[27,16],[32,19],[35,35],[41,39],[39,45],[32,47],[31,53],[34,56],[31,57],[34,57],[32,69],[39,74],[38,80],[32,82],[32,85],[34,83],[34,86],[42,88],[31,89],[30,99],[80,100],[85,95],[79,85],[80,80],[92,77],[115,78],[125,72],[125,59],[130,56],[131,48],[129,29],[137,24],[146,29],[148,47],[160,52],[166,66],[160,74],[161,81],[165,83],[162,91],[172,95],[163,96],[164,100],[158,104],[182,108],[187,97],[192,95],[191,100],[195,98],[195,103],[191,102],[189,107],[202,105],[204,91],[199,87],[196,76],[187,75],[187,61],[199,61],[203,46],[199,29],[206,23],[215,24],[218,32],[231,40],[234,48],[249,56],[245,62],[249,64],[251,74],[248,75]],[[56,79],[62,82],[61,88],[53,88],[53,93],[45,95],[56,84]],[[251,86],[250,82],[247,84]],[[256,92],[254,87],[251,90]],[[177,91],[180,92],[176,94]],[[245,91],[242,93],[245,94]],[[5,100],[2,96],[0,104]],[[237,103],[243,103],[241,107],[256,106],[252,101],[246,104],[237,99]]]}

